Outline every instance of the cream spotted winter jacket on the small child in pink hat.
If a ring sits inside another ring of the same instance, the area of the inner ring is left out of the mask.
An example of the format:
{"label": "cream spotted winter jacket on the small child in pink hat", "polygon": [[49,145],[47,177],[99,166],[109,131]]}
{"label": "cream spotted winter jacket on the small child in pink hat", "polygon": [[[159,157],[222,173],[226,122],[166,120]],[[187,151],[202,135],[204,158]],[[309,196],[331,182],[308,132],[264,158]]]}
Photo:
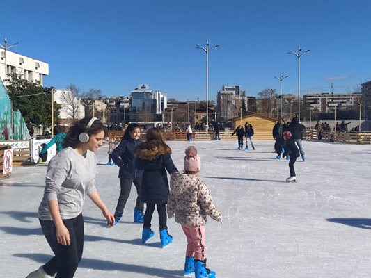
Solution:
{"label": "cream spotted winter jacket on the small child in pink hat", "polygon": [[172,174],[170,188],[168,218],[175,215],[175,222],[190,226],[205,225],[207,215],[221,221],[207,186],[194,174]]}

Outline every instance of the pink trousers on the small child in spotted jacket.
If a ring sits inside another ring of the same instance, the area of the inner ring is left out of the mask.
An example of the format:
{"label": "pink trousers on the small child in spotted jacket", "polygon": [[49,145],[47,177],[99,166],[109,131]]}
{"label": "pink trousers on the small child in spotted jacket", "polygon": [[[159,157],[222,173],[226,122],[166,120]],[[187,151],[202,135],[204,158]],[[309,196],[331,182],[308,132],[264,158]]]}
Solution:
{"label": "pink trousers on the small child in spotted jacket", "polygon": [[206,253],[205,226],[183,225],[182,229],[187,236],[186,256],[194,256],[194,259],[203,261]]}

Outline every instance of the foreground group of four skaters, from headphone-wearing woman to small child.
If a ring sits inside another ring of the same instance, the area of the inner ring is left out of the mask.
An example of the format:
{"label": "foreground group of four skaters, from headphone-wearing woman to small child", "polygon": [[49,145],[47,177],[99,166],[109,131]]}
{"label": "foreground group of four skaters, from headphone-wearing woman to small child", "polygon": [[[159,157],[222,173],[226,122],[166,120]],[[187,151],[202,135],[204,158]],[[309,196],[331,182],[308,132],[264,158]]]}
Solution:
{"label": "foreground group of four skaters, from headphone-wearing woman to small child", "polygon": [[[108,227],[113,227],[123,216],[132,183],[137,194],[134,222],[143,223],[142,243],[155,236],[151,224],[157,208],[161,247],[173,241],[167,218],[175,217],[175,222],[182,226],[187,242],[184,275],[216,277],[214,271],[206,268],[205,224],[207,215],[219,222],[222,217],[207,186],[198,179],[201,164],[196,147],[185,149],[184,172],[180,173],[160,129],[148,129],[145,141],[141,142],[140,126],[129,124],[120,143],[109,151],[109,159],[120,168],[120,195],[113,214],[95,186],[95,152],[102,147],[106,131],[95,117],[79,120],[70,126],[61,149],[49,161],[38,218],[54,257],[27,278],[74,277],[83,254],[82,211],[86,197],[100,208]],[[167,174],[171,174],[170,186]]]}

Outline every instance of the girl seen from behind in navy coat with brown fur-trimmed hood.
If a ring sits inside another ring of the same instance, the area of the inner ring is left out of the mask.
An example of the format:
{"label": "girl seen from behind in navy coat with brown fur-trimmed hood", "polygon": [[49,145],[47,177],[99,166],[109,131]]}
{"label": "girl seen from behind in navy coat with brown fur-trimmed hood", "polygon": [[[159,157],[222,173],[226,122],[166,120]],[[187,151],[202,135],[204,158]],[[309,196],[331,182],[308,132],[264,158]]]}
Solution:
{"label": "girl seen from behind in navy coat with brown fur-trimmed hood", "polygon": [[142,232],[142,243],[146,243],[155,231],[151,229],[152,215],[157,207],[159,214],[159,232],[161,247],[173,241],[173,236],[168,234],[166,204],[168,202],[168,176],[177,171],[171,159],[171,148],[166,145],[161,131],[153,127],[146,133],[146,141],[136,147],[135,166],[144,170],[141,188],[141,200],[146,204]]}

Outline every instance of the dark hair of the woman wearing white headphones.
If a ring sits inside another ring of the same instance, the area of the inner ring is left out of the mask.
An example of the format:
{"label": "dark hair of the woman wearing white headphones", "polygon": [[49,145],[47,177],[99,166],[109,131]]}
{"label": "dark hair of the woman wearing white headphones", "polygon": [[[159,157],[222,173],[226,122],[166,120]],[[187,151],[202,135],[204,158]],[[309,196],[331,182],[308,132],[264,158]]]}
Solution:
{"label": "dark hair of the woman wearing white headphones", "polygon": [[81,144],[79,141],[79,135],[81,133],[88,133],[88,136],[92,136],[93,134],[100,133],[100,131],[104,131],[104,136],[107,135],[106,127],[100,122],[100,120],[95,120],[93,124],[91,124],[90,128],[86,129],[89,121],[92,117],[84,117],[84,119],[79,120],[78,122],[74,122],[70,127],[70,130],[63,140],[63,147],[77,147],[77,145]]}

